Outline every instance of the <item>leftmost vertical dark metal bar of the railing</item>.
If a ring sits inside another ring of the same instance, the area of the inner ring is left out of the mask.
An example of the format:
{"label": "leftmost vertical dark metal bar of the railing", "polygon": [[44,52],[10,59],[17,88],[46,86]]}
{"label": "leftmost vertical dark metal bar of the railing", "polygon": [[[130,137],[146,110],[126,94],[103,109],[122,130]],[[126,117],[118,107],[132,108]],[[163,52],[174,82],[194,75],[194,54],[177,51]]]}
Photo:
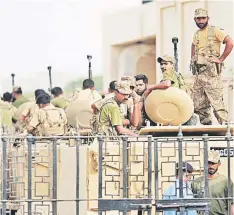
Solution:
{"label": "leftmost vertical dark metal bar of the railing", "polygon": [[2,139],[2,215],[6,215],[7,202],[7,142]]}

